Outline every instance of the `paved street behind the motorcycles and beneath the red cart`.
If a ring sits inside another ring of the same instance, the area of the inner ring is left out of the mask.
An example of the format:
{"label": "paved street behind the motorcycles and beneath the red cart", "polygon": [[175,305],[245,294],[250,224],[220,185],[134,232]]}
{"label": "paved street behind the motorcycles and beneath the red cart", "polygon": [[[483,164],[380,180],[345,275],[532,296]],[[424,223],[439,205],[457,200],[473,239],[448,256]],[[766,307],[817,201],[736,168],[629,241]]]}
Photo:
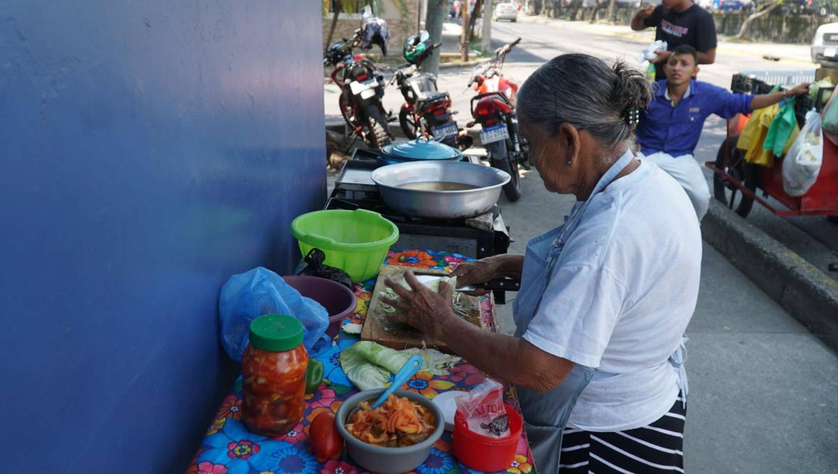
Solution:
{"label": "paved street behind the motorcycles and beneath the red cart", "polygon": [[[446,23],[446,39],[443,48],[453,50],[459,31],[456,23]],[[629,28],[616,25],[588,24],[546,20],[545,18],[520,17],[518,23],[493,23],[493,47],[510,42],[518,37],[521,44],[507,57],[504,75],[520,83],[546,60],[558,54],[582,52],[607,61],[623,58],[629,64],[636,63],[636,55],[654,39],[652,30],[632,32]],[[779,55],[781,61],[762,59],[763,54]],[[729,87],[731,76],[738,71],[803,70],[811,71],[815,65],[807,63],[809,48],[806,45],[788,44],[729,44],[721,43],[716,55],[716,64],[701,66],[701,80],[722,87]],[[458,111],[458,121],[463,124],[471,119],[469,100],[472,90],[465,90],[470,74],[468,70],[441,70],[438,84],[441,90],[448,90],[453,99],[453,110]],[[337,108],[338,89],[334,85],[325,87],[325,108],[327,120],[340,121]],[[385,106],[397,112],[402,98],[395,87],[385,94]],[[398,124],[394,123],[396,128]],[[696,149],[700,162],[714,160],[716,152],[725,137],[724,121],[712,116],[706,122],[704,133]],[[479,152],[479,150],[477,151]],[[705,170],[708,183],[710,170]],[[777,204],[773,199],[769,199]],[[782,208],[782,206],[780,206]],[[794,250],[805,260],[823,271],[830,262],[838,262],[838,223],[822,217],[778,218],[759,204],[754,204],[748,221],[763,229],[780,243]],[[838,280],[838,272],[827,272]]]}

